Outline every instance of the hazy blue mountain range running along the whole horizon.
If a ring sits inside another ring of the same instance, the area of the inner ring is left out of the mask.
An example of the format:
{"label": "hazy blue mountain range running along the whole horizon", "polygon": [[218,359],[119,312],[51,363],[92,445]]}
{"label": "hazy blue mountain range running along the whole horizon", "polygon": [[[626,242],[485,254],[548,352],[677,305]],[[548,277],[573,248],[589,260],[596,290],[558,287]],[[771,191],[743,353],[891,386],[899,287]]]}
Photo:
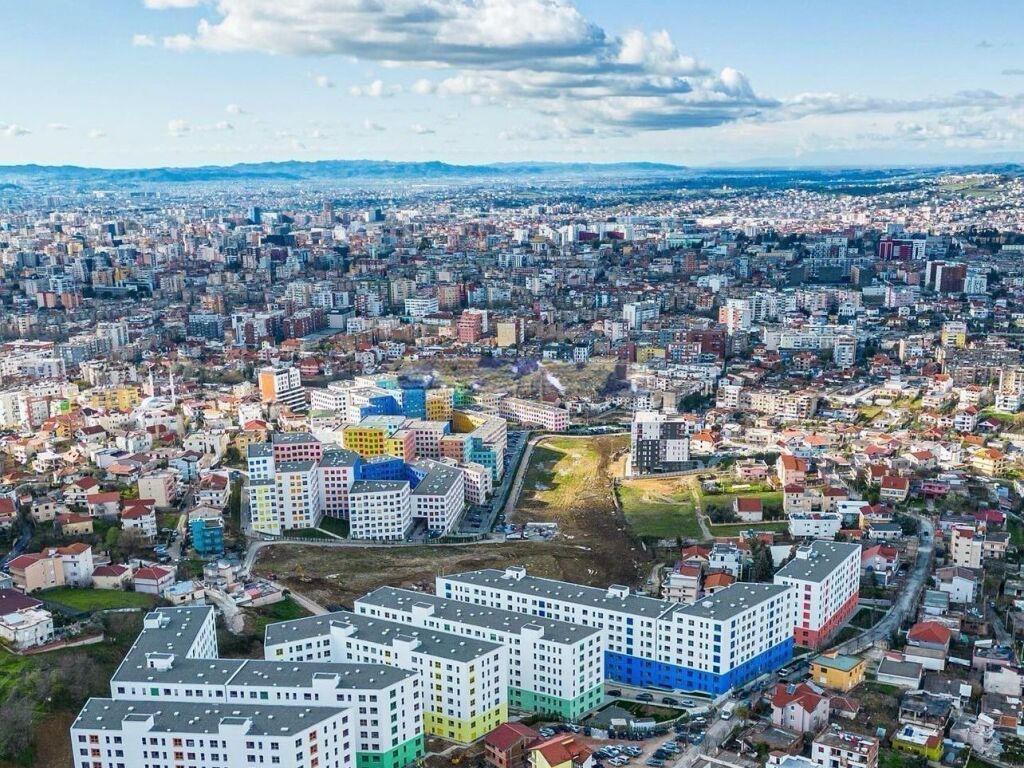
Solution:
{"label": "hazy blue mountain range running along the whole horizon", "polygon": [[877,184],[921,179],[947,172],[985,171],[1019,175],[1024,166],[998,165],[894,167],[894,168],[689,168],[666,163],[493,163],[452,165],[437,161],[395,163],[380,160],[297,160],[280,163],[239,163],[229,166],[190,168],[85,168],[82,166],[0,166],[0,188],[40,183],[75,183],[103,186],[133,183],[197,183],[263,181],[387,183],[389,181],[473,182],[540,181],[585,178],[609,181],[616,178],[679,179],[698,185],[820,186]]}

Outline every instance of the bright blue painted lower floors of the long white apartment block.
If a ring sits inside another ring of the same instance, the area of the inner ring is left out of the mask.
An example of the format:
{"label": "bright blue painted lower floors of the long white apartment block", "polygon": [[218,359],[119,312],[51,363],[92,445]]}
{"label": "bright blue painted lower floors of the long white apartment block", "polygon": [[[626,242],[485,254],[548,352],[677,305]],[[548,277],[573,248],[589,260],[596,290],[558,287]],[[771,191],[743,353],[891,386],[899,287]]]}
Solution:
{"label": "bright blue painted lower floors of the long white apartment block", "polygon": [[663,686],[718,695],[730,688],[743,685],[766,672],[784,667],[792,658],[793,638],[769,648],[734,670],[719,675],[609,650],[604,652],[604,674],[608,679],[627,685]]}

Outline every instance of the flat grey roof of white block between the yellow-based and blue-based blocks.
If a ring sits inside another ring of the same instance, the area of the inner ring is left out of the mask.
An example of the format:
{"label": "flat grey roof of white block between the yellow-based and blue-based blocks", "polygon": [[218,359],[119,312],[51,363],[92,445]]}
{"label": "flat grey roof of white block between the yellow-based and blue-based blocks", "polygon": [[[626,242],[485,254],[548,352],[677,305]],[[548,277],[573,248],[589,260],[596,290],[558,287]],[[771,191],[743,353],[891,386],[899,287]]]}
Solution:
{"label": "flat grey roof of white block between the yellow-based and blue-based blocks", "polygon": [[544,630],[544,638],[553,643],[578,643],[593,635],[599,635],[596,627],[584,627],[568,622],[556,622],[552,618],[531,616],[528,613],[516,613],[501,608],[487,608],[473,605],[460,600],[450,600],[437,595],[429,595],[413,590],[395,587],[380,587],[355,601],[358,605],[376,605],[412,614],[414,605],[429,606],[432,615],[442,621],[466,624],[483,630],[518,634],[525,627],[540,627]]}

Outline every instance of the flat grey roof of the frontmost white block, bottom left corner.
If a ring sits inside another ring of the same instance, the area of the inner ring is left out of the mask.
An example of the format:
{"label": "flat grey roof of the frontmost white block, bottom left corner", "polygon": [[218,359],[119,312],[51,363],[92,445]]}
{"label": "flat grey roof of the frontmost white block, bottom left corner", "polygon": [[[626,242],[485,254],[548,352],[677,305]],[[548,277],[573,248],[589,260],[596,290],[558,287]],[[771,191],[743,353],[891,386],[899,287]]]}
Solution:
{"label": "flat grey roof of the frontmost white block, bottom left corner", "polygon": [[90,698],[75,719],[72,728],[121,730],[124,720],[134,722],[153,718],[154,733],[217,733],[220,725],[249,721],[246,731],[255,736],[290,736],[335,717],[341,708],[281,707],[272,705],[217,706],[210,701],[131,701]]}

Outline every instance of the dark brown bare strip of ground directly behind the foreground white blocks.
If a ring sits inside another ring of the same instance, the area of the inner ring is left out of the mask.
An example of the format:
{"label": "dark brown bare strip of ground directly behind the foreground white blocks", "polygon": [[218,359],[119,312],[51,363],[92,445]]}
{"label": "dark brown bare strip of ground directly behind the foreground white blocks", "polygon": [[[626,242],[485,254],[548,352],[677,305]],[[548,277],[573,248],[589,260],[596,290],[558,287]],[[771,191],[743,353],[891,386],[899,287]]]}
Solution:
{"label": "dark brown bare strip of ground directly behind the foreground white blocks", "polygon": [[260,552],[255,571],[275,573],[279,582],[327,607],[351,607],[355,598],[378,587],[433,591],[438,574],[509,565],[525,565],[534,575],[602,587],[636,584],[646,567],[639,548],[635,553],[617,547],[595,549],[557,539],[465,547],[278,545]]}

